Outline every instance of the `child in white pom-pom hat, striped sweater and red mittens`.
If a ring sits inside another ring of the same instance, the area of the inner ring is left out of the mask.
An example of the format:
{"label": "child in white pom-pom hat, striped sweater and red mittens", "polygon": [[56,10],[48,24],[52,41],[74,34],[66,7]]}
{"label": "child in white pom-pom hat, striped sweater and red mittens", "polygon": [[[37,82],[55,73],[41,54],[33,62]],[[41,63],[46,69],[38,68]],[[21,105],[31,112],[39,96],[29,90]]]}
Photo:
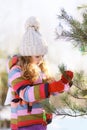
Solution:
{"label": "child in white pom-pom hat, striped sweater and red mittens", "polygon": [[[19,48],[19,56],[9,60],[8,84],[12,92],[11,129],[46,130],[52,114],[45,113],[40,101],[69,87],[73,72],[66,71],[61,80],[53,81],[44,61],[48,47],[39,33],[39,21],[30,17]],[[65,82],[66,81],[66,82]]]}

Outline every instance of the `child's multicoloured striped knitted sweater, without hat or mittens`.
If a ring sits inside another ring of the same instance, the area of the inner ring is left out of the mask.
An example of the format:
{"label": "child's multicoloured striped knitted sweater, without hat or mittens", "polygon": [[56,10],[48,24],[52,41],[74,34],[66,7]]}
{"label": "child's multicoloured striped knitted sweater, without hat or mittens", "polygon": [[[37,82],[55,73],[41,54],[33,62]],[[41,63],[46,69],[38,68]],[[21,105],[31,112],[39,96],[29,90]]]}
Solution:
{"label": "child's multicoloured striped knitted sweater, without hat or mittens", "polygon": [[[47,120],[52,118],[52,114],[46,113],[46,119],[44,119],[44,109],[39,101],[50,96],[48,84],[43,83],[40,78],[38,84],[30,85],[30,82],[22,77],[22,70],[16,63],[17,57],[13,57],[8,63],[8,85],[13,94],[11,129],[17,130],[19,127],[33,124],[47,124]],[[19,98],[18,96],[22,99],[22,102],[14,102],[15,99]],[[27,103],[32,103],[30,113]]]}

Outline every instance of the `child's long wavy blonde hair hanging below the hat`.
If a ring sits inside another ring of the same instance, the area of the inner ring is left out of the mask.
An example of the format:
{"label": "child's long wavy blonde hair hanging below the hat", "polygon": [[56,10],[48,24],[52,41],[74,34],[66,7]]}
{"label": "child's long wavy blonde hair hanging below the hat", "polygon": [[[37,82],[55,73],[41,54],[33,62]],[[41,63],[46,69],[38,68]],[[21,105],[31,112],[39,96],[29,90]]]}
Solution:
{"label": "child's long wavy blonde hair hanging below the hat", "polygon": [[19,65],[22,68],[22,76],[25,79],[30,80],[32,83],[35,82],[39,78],[39,72],[41,70],[45,74],[45,79],[43,80],[47,82],[51,80],[47,64],[44,60],[38,66],[31,61],[32,56],[19,57]]}

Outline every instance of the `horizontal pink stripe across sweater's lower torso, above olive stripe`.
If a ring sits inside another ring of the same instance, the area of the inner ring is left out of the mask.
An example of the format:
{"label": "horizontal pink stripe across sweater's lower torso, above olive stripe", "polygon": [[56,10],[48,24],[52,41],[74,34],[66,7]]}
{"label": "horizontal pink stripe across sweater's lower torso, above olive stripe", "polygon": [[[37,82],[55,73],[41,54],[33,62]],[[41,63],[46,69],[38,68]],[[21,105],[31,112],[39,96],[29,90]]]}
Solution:
{"label": "horizontal pink stripe across sweater's lower torso, above olive stripe", "polygon": [[[43,113],[42,108],[35,108],[35,109],[32,109],[30,114],[41,114],[41,113]],[[18,114],[18,116],[28,115],[28,111],[27,111],[27,109],[26,110],[19,110],[17,114]]]}

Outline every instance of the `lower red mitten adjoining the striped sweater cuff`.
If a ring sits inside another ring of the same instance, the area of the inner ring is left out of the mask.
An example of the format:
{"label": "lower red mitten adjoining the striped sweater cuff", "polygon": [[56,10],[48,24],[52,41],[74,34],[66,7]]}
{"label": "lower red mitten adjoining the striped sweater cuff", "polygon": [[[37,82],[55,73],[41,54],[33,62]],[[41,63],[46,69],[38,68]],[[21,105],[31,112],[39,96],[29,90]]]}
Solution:
{"label": "lower red mitten adjoining the striped sweater cuff", "polygon": [[61,80],[55,81],[49,84],[48,91],[49,93],[53,92],[63,92],[64,91],[64,84],[62,83]]}

